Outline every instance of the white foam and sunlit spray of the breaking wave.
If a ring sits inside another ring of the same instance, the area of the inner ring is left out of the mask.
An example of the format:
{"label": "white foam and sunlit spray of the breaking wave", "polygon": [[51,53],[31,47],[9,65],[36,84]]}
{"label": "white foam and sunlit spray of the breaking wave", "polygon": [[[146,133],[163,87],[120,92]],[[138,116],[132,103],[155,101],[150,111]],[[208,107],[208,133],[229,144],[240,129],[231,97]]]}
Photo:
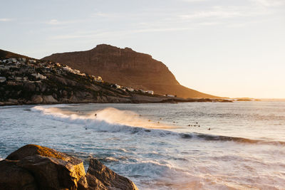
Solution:
{"label": "white foam and sunlit spray of the breaking wave", "polygon": [[[149,122],[147,119],[140,118],[138,114],[130,111],[121,111],[112,107],[90,112],[86,115],[79,115],[70,111],[63,111],[51,105],[35,106],[31,111],[41,112],[43,117],[61,122],[76,123],[86,126],[88,129],[108,132],[155,132],[160,134],[171,133],[167,130],[174,128],[168,125],[158,125]],[[95,116],[96,114],[96,116]]]}

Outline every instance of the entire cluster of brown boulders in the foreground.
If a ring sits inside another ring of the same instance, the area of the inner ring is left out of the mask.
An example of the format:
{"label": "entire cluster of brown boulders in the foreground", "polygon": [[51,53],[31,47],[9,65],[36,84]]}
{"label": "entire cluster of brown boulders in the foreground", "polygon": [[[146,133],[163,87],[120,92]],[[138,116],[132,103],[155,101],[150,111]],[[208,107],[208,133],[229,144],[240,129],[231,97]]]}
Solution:
{"label": "entire cluster of brown boulders in the foreground", "polygon": [[86,174],[81,159],[28,144],[0,162],[0,189],[138,189],[96,159]]}

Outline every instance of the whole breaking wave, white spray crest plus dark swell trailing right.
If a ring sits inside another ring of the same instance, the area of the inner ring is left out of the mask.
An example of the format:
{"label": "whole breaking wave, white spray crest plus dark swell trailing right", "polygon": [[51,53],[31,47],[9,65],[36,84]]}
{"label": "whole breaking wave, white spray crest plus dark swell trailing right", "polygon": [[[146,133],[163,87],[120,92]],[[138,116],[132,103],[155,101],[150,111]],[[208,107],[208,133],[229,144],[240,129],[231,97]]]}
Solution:
{"label": "whole breaking wave, white spray crest plus dark swell trailing right", "polygon": [[197,132],[172,132],[170,129],[175,128],[173,126],[157,124],[141,117],[135,112],[117,110],[112,107],[97,110],[96,112],[88,112],[84,115],[79,115],[71,111],[64,111],[58,108],[65,106],[66,105],[35,106],[31,108],[31,111],[40,112],[43,117],[47,117],[51,120],[83,125],[88,130],[95,130],[98,132],[128,132],[130,134],[143,134],[159,137],[175,136],[182,139],[202,139],[217,142],[285,145],[285,142],[282,141],[265,141],[261,139],[247,139]]}

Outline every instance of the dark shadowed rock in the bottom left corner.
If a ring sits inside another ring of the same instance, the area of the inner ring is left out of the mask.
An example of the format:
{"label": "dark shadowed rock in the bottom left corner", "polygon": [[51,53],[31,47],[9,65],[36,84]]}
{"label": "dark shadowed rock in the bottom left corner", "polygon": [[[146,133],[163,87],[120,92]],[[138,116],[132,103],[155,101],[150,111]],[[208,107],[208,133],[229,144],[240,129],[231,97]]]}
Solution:
{"label": "dark shadowed rock in the bottom left corner", "polygon": [[0,189],[38,189],[32,174],[16,165],[18,161],[0,162]]}

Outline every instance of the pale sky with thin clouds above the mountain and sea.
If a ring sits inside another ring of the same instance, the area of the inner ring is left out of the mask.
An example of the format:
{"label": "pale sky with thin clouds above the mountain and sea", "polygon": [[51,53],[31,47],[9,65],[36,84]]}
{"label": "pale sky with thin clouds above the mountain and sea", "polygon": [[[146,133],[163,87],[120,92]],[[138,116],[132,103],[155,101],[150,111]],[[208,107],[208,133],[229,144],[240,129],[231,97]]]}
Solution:
{"label": "pale sky with thin clouds above the mountain and sea", "polygon": [[33,58],[101,43],[160,60],[181,85],[285,98],[285,0],[1,0],[0,48]]}

